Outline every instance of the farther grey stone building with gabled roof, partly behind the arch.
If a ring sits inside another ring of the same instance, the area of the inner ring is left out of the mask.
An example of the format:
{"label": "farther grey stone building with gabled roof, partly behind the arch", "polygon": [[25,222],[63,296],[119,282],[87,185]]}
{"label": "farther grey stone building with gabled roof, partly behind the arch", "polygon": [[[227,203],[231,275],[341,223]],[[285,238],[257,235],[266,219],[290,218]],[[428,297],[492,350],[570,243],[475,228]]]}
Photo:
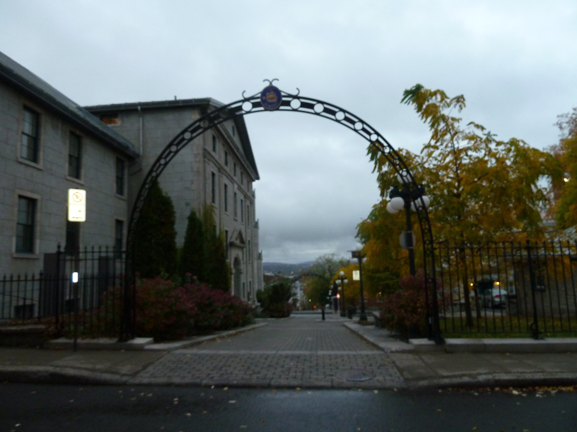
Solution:
{"label": "farther grey stone building with gabled roof, partly behind the arch", "polygon": [[[211,98],[85,107],[130,142],[141,157],[130,168],[130,190],[136,192],[158,154],[193,120],[221,103]],[[233,292],[254,302],[261,286],[258,221],[253,182],[258,170],[242,117],[227,120],[182,149],[159,178],[176,212],[177,247],[182,247],[190,210],[204,204],[215,211],[224,230],[232,270]],[[136,193],[131,194],[135,198]],[[132,203],[131,203],[132,204]]]}

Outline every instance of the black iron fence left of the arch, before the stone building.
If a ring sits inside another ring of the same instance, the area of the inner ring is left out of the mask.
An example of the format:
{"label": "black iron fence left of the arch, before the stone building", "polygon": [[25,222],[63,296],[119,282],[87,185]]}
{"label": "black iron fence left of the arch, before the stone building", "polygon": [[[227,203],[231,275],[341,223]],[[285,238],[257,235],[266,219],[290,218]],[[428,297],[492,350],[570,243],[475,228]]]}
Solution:
{"label": "black iron fence left of the arch, before the stone building", "polygon": [[44,254],[38,275],[3,275],[0,323],[43,322],[57,337],[118,336],[125,256],[114,248],[69,253],[58,246]]}

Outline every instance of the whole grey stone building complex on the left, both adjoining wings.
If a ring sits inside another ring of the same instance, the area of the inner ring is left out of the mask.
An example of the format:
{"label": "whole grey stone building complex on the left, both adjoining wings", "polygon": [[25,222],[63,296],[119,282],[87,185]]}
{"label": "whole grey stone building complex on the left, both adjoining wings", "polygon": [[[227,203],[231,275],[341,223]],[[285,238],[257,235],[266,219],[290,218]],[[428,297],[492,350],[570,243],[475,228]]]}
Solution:
{"label": "whole grey stone building complex on the left, both adjoining wings", "polygon": [[[219,106],[203,98],[82,108],[0,53],[0,275],[42,270],[58,243],[69,250],[125,245],[130,209],[153,161],[174,135]],[[233,292],[256,301],[258,170],[244,120],[195,139],[159,180],[175,206],[177,246],[190,210],[213,206]],[[67,221],[69,188],[87,191],[85,222]]]}

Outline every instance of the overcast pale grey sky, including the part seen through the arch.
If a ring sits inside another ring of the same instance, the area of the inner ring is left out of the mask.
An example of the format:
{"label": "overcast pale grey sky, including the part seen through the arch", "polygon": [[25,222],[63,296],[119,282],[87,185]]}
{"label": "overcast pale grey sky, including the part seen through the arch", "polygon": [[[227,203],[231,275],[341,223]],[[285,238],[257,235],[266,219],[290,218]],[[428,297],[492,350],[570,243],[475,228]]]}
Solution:
{"label": "overcast pale grey sky, including the part seen through the arch", "polygon": [[[213,97],[264,78],[340,105],[395,147],[428,130],[400,104],[420,83],[463,117],[543,148],[577,105],[577,2],[0,1],[0,51],[81,105]],[[301,113],[246,116],[267,262],[345,255],[379,201],[366,143]]]}

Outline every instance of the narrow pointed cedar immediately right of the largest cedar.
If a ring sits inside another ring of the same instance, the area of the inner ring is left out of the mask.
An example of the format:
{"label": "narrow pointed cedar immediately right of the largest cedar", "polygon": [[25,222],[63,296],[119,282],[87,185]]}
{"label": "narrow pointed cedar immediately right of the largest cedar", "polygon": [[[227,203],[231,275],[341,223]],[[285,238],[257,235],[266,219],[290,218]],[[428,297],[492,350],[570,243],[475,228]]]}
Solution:
{"label": "narrow pointed cedar immediately right of the largest cedar", "polygon": [[190,210],[184,245],[182,246],[178,273],[196,276],[198,281],[207,279],[207,244],[205,242],[203,222],[198,218],[196,211]]}

